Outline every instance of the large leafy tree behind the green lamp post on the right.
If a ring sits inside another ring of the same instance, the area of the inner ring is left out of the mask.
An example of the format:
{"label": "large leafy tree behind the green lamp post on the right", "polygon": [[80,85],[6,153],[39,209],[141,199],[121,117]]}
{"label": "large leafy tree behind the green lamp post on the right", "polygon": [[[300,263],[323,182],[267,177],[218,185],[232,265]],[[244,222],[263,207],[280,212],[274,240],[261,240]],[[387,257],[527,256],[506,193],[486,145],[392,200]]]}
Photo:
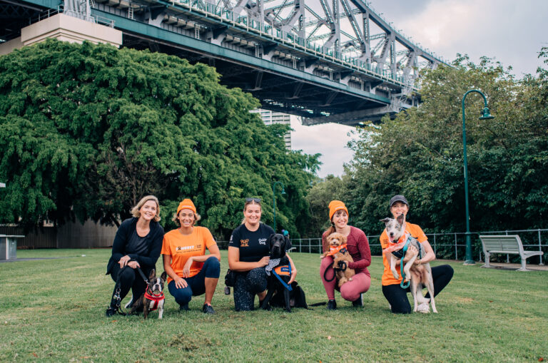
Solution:
{"label": "large leafy tree behind the green lamp post on the right", "polygon": [[[546,54],[544,53],[544,56]],[[402,193],[427,230],[465,230],[461,101],[466,99],[472,230],[547,227],[547,71],[516,80],[499,63],[459,56],[422,77],[422,104],[360,131],[345,200],[354,223],[375,232],[387,200]]]}

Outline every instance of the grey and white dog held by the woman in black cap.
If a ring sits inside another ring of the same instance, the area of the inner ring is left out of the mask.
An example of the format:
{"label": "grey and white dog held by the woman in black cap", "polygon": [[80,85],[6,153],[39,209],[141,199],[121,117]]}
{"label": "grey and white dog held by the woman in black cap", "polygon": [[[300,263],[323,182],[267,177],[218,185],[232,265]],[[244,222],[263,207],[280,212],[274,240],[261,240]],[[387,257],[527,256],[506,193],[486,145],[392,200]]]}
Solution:
{"label": "grey and white dog held by the woman in black cap", "polygon": [[[405,228],[403,227],[403,215],[398,215],[396,219],[385,218],[380,220],[386,225],[386,234],[388,235],[388,240],[390,245],[393,245],[400,240],[400,238],[405,234]],[[407,237],[406,237],[407,238]],[[405,241],[404,241],[405,242]],[[434,281],[432,280],[432,269],[430,268],[430,263],[425,263],[422,265],[413,265],[413,262],[417,258],[422,258],[425,255],[424,248],[419,247],[419,241],[415,238],[410,237],[410,245],[415,246],[418,255],[412,256],[406,263],[405,266],[400,266],[400,270],[405,272],[405,282],[411,279],[410,290],[413,300],[415,300],[415,307],[413,311],[417,311],[417,306],[422,304],[422,302],[428,302],[428,299],[422,296],[422,287],[425,286],[430,294],[430,300],[432,301],[432,312],[437,312],[436,305],[434,302]],[[407,249],[406,255],[410,254],[409,249]],[[390,270],[395,279],[400,279],[400,275],[397,274],[396,262],[398,257],[396,257],[391,252],[385,252],[386,258],[390,261]]]}

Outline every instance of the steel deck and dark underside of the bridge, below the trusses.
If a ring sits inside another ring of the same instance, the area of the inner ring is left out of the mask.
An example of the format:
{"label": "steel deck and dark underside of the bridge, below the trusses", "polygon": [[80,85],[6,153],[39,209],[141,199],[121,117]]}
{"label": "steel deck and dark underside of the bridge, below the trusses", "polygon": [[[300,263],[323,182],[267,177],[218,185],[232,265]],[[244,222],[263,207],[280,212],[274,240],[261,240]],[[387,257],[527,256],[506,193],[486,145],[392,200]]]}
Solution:
{"label": "steel deck and dark underside of the bridge, below the trusses", "polygon": [[[250,16],[229,16],[225,8],[200,8],[198,1],[96,0],[91,15],[122,31],[122,46],[214,66],[225,86],[252,93],[262,108],[300,116],[305,125],[378,121],[419,102],[411,93],[415,78],[401,76],[394,66],[385,71],[338,53],[336,43],[333,49],[316,47],[292,29],[283,31],[287,26],[280,31],[253,23]],[[59,0],[0,0],[0,39],[20,36],[21,28],[60,5]]]}

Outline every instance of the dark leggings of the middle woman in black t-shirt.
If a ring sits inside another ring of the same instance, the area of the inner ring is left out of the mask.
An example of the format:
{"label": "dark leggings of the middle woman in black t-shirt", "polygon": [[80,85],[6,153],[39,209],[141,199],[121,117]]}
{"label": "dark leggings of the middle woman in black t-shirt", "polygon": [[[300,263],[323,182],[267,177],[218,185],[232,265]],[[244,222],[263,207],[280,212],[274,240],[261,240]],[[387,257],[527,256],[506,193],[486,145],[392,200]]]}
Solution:
{"label": "dark leggings of the middle woman in black t-shirt", "polygon": [[265,267],[247,272],[236,272],[234,283],[234,307],[237,312],[253,310],[255,295],[266,290]]}

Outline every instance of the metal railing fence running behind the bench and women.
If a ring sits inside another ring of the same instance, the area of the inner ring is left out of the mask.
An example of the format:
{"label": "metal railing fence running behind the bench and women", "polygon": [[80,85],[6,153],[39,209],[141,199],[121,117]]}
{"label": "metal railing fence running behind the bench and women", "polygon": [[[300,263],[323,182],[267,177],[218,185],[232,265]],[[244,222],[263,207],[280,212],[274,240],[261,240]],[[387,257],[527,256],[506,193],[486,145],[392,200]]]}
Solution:
{"label": "metal railing fence running behind the bench and women", "polygon": [[[437,258],[448,260],[465,260],[466,250],[466,234],[465,232],[453,233],[426,233],[428,241]],[[477,257],[477,260],[484,260],[482,243],[479,235],[519,235],[523,242],[525,250],[543,251],[544,255],[539,257],[530,257],[530,260],[539,262],[544,265],[544,261],[548,258],[548,230],[489,230],[484,232],[472,232],[472,256]],[[379,241],[380,235],[367,235],[371,255],[382,255],[382,249]],[[544,243],[543,243],[544,237]],[[291,244],[295,247],[295,251],[305,253],[321,253],[322,239],[321,238],[294,238]],[[518,261],[519,257],[506,255],[492,255],[492,260],[505,260],[506,262]],[[538,260],[537,260],[538,258]],[[537,260],[537,261],[535,261]]]}

